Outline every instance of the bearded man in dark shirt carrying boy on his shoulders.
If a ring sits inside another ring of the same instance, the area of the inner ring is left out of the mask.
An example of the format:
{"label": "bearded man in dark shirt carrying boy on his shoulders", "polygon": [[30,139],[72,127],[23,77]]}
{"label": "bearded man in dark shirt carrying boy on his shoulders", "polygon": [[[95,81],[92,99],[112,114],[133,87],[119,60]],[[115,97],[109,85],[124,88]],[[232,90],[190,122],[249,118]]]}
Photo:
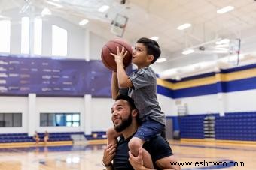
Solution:
{"label": "bearded man in dark shirt carrying boy on his shoulders", "polygon": [[[144,152],[142,148],[139,148],[138,157],[134,157],[129,152],[128,142],[139,127],[139,112],[136,109],[133,99],[120,94],[111,108],[111,113],[114,129],[122,133],[123,136],[120,137],[117,146],[108,145],[105,148],[102,164],[106,169],[139,170],[147,169],[146,167],[150,167],[148,165],[151,164],[157,169],[180,169],[179,166],[172,166],[171,163],[176,162],[175,157],[172,155],[169,143],[161,136],[156,136],[154,139],[145,142],[143,148],[148,152]],[[151,154],[153,163],[143,163],[143,157],[145,157],[146,153]],[[112,160],[113,163],[111,163]]]}

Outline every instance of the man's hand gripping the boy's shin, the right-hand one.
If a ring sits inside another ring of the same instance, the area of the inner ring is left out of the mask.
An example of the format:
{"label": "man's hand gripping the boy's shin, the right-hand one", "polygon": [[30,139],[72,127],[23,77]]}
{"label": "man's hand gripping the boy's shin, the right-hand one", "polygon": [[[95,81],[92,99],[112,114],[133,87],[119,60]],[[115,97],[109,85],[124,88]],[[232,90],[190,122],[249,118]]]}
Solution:
{"label": "man's hand gripping the boy's shin, the right-hand one", "polygon": [[134,157],[131,151],[129,151],[129,162],[133,166],[133,169],[139,170],[144,169],[143,160],[142,160],[142,147],[139,148],[138,157]]}

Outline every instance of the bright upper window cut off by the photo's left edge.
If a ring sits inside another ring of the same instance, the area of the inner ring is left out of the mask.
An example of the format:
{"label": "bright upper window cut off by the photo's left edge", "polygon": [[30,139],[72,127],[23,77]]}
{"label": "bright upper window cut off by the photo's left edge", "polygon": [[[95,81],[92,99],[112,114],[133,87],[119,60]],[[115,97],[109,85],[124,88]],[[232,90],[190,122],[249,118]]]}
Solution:
{"label": "bright upper window cut off by the photo's left edge", "polygon": [[0,21],[0,52],[10,52],[11,22]]}

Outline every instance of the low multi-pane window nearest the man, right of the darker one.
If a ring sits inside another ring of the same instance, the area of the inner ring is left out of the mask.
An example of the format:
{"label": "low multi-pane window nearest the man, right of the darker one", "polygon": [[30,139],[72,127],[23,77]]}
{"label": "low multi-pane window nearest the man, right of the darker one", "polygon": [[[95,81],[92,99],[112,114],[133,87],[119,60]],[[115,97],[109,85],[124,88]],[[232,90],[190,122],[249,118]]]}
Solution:
{"label": "low multi-pane window nearest the man, right of the darker one", "polygon": [[40,127],[79,127],[80,113],[41,113]]}

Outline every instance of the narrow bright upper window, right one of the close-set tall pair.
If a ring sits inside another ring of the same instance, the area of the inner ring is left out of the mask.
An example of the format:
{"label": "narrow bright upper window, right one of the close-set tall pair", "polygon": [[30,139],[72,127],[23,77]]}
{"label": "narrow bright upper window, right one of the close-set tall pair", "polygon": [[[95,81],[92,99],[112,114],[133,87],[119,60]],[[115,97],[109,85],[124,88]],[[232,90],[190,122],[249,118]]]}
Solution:
{"label": "narrow bright upper window, right one of the close-set tall pair", "polygon": [[42,19],[34,19],[34,54],[41,55],[41,43],[42,43]]}

